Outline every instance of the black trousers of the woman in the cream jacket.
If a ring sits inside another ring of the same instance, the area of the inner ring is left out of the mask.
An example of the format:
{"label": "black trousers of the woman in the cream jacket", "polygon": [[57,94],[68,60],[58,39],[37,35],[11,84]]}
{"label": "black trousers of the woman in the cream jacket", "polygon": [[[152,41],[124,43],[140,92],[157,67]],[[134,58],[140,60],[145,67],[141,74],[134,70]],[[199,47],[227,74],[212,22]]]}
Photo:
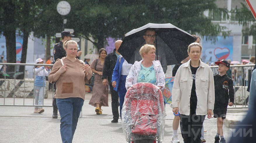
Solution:
{"label": "black trousers of the woman in the cream jacket", "polygon": [[182,122],[182,136],[186,143],[201,143],[201,130],[205,115],[180,114]]}

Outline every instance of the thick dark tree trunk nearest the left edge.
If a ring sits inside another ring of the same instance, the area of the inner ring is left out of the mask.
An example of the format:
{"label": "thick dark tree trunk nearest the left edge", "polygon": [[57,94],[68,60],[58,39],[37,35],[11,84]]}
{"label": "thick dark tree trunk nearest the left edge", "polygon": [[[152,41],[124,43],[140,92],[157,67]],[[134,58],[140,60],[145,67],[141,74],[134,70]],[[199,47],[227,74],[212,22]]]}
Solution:
{"label": "thick dark tree trunk nearest the left edge", "polygon": [[[6,59],[7,63],[16,63],[16,37],[15,28],[4,31],[6,41]],[[14,72],[15,66],[7,66],[6,72]]]}

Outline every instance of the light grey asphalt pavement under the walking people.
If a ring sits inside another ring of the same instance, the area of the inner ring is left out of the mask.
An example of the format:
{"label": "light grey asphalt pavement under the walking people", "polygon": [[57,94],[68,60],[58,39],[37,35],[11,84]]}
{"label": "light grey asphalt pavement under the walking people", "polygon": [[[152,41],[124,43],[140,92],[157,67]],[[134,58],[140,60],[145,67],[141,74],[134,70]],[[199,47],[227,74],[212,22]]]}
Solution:
{"label": "light grey asphalt pavement under the walking people", "polygon": [[[44,105],[51,105],[52,98],[49,93],[48,99],[44,99]],[[109,94],[109,107],[102,107],[102,115],[96,115],[95,107],[89,105],[91,93],[86,93],[82,108],[82,115],[74,135],[73,143],[125,143],[125,137],[121,127],[121,119],[118,123],[111,123],[111,95]],[[0,104],[13,104],[13,98],[0,98]],[[33,104],[33,99],[15,98],[15,104]],[[59,143],[60,136],[60,115],[58,119],[52,118],[52,107],[44,107],[41,114],[33,113],[33,107],[22,106],[0,106],[0,143]],[[235,116],[241,120],[245,112],[229,112],[227,120],[231,122]],[[173,112],[169,105],[166,106],[166,125],[163,143],[170,143],[172,137]],[[239,117],[238,117],[239,116]],[[217,131],[217,120],[215,118],[204,121],[204,137],[206,142],[214,142]],[[232,128],[229,123],[223,126],[224,137],[228,141],[231,137]],[[180,127],[178,138],[182,142]]]}

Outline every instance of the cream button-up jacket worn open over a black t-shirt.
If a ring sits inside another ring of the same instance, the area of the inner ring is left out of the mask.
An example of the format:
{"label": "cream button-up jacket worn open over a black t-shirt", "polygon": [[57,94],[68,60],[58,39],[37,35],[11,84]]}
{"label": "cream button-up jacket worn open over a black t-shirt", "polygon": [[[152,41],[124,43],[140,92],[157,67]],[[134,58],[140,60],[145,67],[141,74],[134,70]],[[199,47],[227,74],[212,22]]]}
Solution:
{"label": "cream button-up jacket worn open over a black t-shirt", "polygon": [[[193,84],[190,61],[182,64],[177,70],[172,90],[172,104],[170,104],[172,108],[179,106],[180,114],[184,115],[190,114],[190,96]],[[214,109],[213,71],[201,60],[199,68],[196,70],[196,96],[196,115],[206,115],[207,109]]]}

